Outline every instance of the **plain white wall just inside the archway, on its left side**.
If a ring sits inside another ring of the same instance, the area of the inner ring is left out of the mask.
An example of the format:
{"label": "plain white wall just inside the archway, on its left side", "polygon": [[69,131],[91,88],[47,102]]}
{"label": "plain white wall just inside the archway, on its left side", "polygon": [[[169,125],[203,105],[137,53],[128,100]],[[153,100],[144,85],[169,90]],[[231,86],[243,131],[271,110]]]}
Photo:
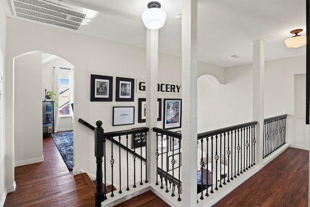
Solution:
{"label": "plain white wall just inside the archway, on its left side", "polygon": [[43,161],[41,63],[40,53],[21,56],[14,62],[16,166]]}

